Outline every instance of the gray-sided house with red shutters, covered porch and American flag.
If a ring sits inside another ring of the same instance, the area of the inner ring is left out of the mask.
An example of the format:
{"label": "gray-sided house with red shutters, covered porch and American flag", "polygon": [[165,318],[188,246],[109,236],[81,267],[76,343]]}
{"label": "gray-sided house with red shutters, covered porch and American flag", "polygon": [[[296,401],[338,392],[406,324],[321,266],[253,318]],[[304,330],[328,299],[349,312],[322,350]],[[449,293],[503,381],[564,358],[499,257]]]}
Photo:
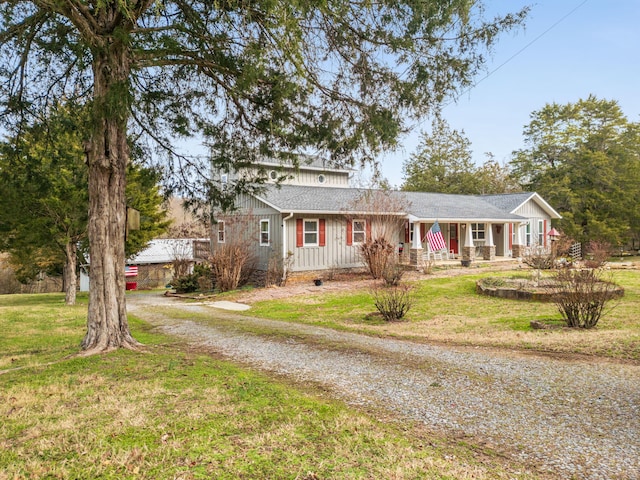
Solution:
{"label": "gray-sided house with red shutters, covered porch and American flag", "polygon": [[[219,217],[212,247],[215,251],[236,238],[230,224],[242,218],[251,224],[241,230],[245,238],[251,237],[257,267],[263,270],[273,258],[290,258],[292,272],[361,267],[359,244],[376,238],[390,219],[395,225],[390,238],[408,252],[413,265],[430,253],[426,234],[436,221],[447,256],[468,261],[520,257],[528,247],[544,248],[551,221],[560,218],[537,193],[452,195],[352,188],[350,170],[330,169],[317,159],[297,170],[271,162],[260,168],[266,169],[269,184],[262,193],[240,196],[237,214]],[[232,181],[227,176],[224,180]]]}

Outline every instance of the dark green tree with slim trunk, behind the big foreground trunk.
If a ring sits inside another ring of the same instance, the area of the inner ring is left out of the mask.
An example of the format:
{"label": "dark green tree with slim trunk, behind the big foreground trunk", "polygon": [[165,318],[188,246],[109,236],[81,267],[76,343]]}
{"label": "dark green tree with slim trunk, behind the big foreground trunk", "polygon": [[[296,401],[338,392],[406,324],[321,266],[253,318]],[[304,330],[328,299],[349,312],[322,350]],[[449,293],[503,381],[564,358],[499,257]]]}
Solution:
{"label": "dark green tree with slim trunk, behind the big foreground trunk", "polygon": [[[18,280],[41,273],[63,276],[67,304],[74,304],[78,247],[87,240],[89,198],[82,149],[86,108],[54,105],[46,118],[0,143],[0,251],[10,253]],[[127,168],[127,205],[141,213],[140,230],[126,242],[127,256],[168,228],[160,174]],[[124,268],[124,264],[123,264]]]}

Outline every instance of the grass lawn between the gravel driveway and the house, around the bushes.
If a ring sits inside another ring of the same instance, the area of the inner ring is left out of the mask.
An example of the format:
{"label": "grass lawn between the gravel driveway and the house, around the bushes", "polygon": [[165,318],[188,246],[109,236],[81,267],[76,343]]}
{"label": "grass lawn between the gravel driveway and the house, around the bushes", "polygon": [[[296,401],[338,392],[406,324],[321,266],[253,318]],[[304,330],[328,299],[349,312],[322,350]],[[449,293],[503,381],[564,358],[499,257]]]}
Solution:
{"label": "grass lawn between the gravel driveway and the house, around the bushes", "polygon": [[480,273],[413,282],[415,304],[401,322],[372,316],[367,290],[305,295],[252,305],[246,315],[308,323],[418,341],[581,353],[640,360],[640,272],[613,271],[625,295],[591,330],[534,330],[532,320],[560,321],[552,303],[505,300],[476,294],[486,276],[530,275],[527,272]]}

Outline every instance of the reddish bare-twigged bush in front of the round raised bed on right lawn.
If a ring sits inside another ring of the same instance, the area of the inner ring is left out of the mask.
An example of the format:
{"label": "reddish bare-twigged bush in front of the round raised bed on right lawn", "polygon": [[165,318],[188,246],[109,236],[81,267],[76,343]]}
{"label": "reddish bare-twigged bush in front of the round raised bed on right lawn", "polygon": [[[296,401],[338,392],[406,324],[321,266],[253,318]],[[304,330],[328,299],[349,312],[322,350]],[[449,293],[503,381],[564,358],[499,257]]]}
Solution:
{"label": "reddish bare-twigged bush in front of the round raised bed on right lawn", "polygon": [[549,288],[568,327],[595,327],[607,304],[619,296],[617,285],[603,280],[597,269],[559,270]]}

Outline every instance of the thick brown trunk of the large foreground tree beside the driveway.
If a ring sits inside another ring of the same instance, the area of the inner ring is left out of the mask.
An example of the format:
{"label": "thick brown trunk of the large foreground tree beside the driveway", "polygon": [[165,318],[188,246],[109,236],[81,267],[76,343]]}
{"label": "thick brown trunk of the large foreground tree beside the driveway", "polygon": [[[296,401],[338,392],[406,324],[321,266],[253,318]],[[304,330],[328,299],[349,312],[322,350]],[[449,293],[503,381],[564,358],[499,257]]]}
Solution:
{"label": "thick brown trunk of the large foreground tree beside the driveway", "polygon": [[89,166],[89,312],[85,353],[140,344],[131,336],[125,305],[124,240],[129,58],[113,38],[94,50],[94,111]]}

